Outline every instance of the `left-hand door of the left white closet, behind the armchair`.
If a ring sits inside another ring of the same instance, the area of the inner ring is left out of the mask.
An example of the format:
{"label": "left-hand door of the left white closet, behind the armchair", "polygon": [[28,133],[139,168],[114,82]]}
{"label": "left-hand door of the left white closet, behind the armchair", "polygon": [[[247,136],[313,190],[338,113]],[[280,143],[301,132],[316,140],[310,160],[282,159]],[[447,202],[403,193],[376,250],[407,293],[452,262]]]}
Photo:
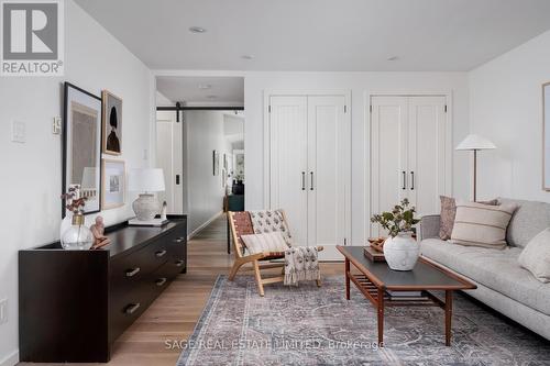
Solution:
{"label": "left-hand door of the left white closet, behind the armchair", "polygon": [[307,97],[271,97],[270,204],[285,210],[297,245],[307,237]]}

